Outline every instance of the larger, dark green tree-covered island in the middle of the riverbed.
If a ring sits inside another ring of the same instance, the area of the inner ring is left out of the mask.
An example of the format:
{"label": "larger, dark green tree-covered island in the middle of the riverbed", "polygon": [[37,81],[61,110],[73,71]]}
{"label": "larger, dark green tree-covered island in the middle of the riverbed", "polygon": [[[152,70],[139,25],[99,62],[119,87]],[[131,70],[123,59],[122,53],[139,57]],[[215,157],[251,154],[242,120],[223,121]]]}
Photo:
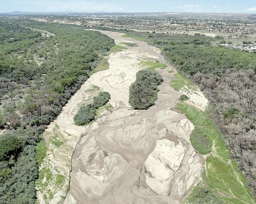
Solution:
{"label": "larger, dark green tree-covered island in the middle of the riverbed", "polygon": [[157,99],[157,86],[163,78],[148,69],[140,70],[136,74],[136,80],[130,86],[129,103],[134,109],[147,109]]}

